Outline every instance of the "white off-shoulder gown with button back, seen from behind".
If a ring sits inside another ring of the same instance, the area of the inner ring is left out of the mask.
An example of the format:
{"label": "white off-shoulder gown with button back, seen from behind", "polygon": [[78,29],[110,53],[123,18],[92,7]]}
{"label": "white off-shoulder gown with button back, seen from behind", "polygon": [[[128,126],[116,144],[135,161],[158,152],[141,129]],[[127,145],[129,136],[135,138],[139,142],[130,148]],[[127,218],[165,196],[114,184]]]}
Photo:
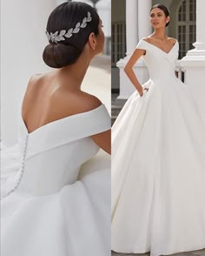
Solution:
{"label": "white off-shoulder gown with button back, seen from behind", "polygon": [[18,144],[1,155],[1,256],[109,255],[109,155],[77,180],[99,150],[90,136],[109,129],[104,104],[30,133],[20,114]]}

